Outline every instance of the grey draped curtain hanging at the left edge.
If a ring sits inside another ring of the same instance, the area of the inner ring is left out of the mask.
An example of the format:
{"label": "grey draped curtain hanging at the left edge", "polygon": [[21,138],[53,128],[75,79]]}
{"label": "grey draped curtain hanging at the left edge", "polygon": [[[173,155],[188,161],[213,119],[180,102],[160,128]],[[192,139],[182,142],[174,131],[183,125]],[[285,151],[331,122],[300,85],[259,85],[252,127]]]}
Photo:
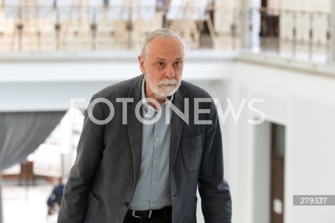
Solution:
{"label": "grey draped curtain hanging at the left edge", "polygon": [[[34,152],[59,124],[62,112],[0,113],[0,171]],[[0,178],[0,223],[3,223]]]}

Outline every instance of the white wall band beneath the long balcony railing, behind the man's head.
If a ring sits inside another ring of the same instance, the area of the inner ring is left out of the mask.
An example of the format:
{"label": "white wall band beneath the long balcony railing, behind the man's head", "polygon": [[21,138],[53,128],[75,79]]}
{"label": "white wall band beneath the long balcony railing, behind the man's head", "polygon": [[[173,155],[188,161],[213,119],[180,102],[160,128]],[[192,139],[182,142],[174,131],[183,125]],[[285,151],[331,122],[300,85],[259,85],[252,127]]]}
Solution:
{"label": "white wall band beneath the long balcony railing, behind the man's head", "polygon": [[[100,57],[66,55],[61,55],[63,59],[43,54],[33,59],[29,59],[29,54],[1,59],[0,55],[0,111],[67,110],[70,97],[86,98],[87,103],[77,105],[87,108],[91,96],[103,87],[141,74],[135,51],[124,56],[120,52]],[[228,69],[220,60],[224,57],[221,52],[189,52],[184,78],[204,85],[204,79],[221,79],[222,71]]]}

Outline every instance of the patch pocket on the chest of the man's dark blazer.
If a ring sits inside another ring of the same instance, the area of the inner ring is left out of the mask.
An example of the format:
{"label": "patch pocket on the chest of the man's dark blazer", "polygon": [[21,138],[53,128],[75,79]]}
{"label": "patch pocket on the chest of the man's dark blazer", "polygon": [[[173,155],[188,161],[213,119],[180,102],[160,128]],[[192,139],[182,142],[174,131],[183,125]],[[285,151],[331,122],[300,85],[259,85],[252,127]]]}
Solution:
{"label": "patch pocket on the chest of the man's dark blazer", "polygon": [[181,139],[181,153],[186,171],[193,172],[199,168],[203,145],[202,134]]}

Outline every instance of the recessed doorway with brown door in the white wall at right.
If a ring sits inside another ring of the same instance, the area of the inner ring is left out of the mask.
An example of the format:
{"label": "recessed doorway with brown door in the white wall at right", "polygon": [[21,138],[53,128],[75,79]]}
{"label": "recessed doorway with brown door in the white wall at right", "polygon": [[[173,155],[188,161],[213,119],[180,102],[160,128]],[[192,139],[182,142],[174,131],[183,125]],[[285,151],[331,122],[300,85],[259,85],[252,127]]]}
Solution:
{"label": "recessed doorway with brown door in the white wall at right", "polygon": [[253,222],[283,223],[285,127],[263,122],[253,138]]}

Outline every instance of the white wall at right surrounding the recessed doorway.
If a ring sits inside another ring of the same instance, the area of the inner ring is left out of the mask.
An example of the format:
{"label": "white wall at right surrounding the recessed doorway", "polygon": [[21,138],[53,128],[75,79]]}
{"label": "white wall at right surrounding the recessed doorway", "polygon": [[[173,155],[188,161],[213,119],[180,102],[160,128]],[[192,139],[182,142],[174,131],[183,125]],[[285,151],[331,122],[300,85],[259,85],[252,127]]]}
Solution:
{"label": "white wall at right surrounding the recessed doorway", "polygon": [[[235,64],[233,79],[240,97],[265,99],[259,106],[269,122],[284,124],[287,129],[285,148],[285,223],[334,222],[334,206],[292,206],[292,195],[322,195],[335,192],[335,80],[318,75],[253,64]],[[234,92],[236,93],[236,92]],[[253,113],[245,114],[252,117]],[[241,176],[230,182],[234,195],[234,222],[268,222],[259,213],[268,210],[266,198],[257,195],[268,192],[269,180],[265,172],[262,180],[258,161],[267,154],[260,153],[257,141],[260,128],[241,122],[237,129],[235,157],[240,157],[237,168]],[[232,130],[232,129],[231,129]],[[263,143],[267,143],[266,140]],[[263,145],[263,147],[265,147]],[[265,192],[260,192],[260,190]],[[268,195],[269,196],[269,195]],[[260,210],[260,208],[263,208]],[[241,211],[243,214],[241,214]]]}

